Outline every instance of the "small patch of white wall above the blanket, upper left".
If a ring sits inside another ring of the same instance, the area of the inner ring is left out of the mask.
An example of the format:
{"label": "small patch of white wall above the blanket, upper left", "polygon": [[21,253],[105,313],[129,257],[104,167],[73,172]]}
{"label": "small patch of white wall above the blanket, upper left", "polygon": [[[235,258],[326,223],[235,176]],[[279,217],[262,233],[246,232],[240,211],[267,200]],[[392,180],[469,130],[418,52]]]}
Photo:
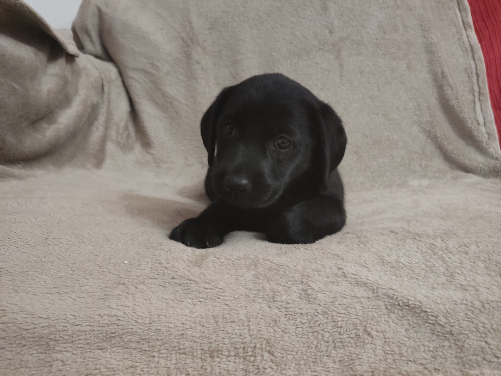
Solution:
{"label": "small patch of white wall above the blanket, upper left", "polygon": [[70,29],[82,0],[25,0],[57,29]]}

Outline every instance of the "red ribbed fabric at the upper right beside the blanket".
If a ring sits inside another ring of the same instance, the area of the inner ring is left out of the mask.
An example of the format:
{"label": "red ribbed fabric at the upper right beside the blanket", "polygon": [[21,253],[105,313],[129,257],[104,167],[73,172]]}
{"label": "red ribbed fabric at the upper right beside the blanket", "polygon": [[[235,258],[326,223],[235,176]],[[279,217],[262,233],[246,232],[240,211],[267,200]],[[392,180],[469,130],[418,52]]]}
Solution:
{"label": "red ribbed fabric at the upper right beside the blanket", "polygon": [[468,3],[485,60],[490,104],[501,147],[501,0],[468,0]]}

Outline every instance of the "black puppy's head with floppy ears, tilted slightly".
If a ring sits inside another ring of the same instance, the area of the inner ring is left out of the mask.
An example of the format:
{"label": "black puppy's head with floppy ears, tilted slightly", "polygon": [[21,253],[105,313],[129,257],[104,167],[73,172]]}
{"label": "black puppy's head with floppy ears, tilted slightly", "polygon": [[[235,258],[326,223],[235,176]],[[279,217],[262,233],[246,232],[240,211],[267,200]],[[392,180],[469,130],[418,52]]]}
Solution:
{"label": "black puppy's head with floppy ears, tilted slightly", "polygon": [[304,173],[325,189],[346,147],[334,110],[281,74],[223,89],[200,130],[214,192],[242,208],[273,204]]}

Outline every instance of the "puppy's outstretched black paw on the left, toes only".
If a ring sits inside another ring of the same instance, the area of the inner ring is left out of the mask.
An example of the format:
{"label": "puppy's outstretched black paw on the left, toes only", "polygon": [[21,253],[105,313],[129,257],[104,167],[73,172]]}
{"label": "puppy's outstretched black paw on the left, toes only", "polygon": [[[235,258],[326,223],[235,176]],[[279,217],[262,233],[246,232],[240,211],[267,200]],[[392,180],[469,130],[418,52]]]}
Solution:
{"label": "puppy's outstretched black paw on the left, toes only", "polygon": [[222,243],[216,229],[198,218],[190,218],[171,231],[169,239],[192,248],[212,248]]}

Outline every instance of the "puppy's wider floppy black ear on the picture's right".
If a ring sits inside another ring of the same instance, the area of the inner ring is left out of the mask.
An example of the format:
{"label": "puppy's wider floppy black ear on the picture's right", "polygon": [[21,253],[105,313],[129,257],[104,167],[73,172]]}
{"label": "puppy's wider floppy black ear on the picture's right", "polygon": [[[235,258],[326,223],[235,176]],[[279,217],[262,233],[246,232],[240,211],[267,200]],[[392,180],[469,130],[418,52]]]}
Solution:
{"label": "puppy's wider floppy black ear on the picture's right", "polygon": [[317,100],[313,106],[312,117],[315,127],[318,157],[317,170],[321,174],[322,185],[327,186],[330,174],[343,159],[347,137],[343,123],[336,112],[327,103]]}

